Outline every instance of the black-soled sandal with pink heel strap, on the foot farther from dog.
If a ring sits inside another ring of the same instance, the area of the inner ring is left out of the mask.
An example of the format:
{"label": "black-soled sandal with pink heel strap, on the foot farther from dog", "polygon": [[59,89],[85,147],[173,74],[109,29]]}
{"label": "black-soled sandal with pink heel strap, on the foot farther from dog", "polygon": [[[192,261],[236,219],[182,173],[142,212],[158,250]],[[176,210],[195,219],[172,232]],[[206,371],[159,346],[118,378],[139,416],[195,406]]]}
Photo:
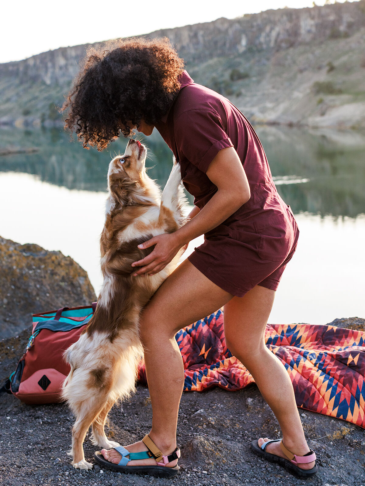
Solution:
{"label": "black-soled sandal with pink heel strap, on the foot farther from dog", "polygon": [[[288,459],[284,459],[283,457],[275,454],[270,454],[270,452],[265,452],[266,447],[273,442],[280,442],[280,449],[284,452]],[[297,478],[310,478],[310,476],[313,476],[318,471],[316,464],[312,467],[312,469],[301,469],[297,466],[297,464],[305,464],[315,461],[316,456],[313,451],[309,451],[304,456],[297,456],[291,451],[288,451],[281,439],[268,440],[267,442],[264,442],[261,447],[258,445],[258,440],[253,440],[251,442],[251,449],[255,452],[255,454],[267,459],[268,461],[277,462],[281,466],[284,466],[288,472],[292,473]]]}

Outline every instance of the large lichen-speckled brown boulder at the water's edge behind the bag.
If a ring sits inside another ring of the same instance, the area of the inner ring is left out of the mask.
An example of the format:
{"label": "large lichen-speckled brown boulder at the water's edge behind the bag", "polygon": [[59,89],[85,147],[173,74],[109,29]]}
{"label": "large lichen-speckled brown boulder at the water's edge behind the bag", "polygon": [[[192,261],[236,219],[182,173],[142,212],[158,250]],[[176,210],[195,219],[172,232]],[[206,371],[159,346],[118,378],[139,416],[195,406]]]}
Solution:
{"label": "large lichen-speckled brown boulder at the water's edge behind the bag", "polygon": [[0,337],[28,328],[32,314],[95,300],[87,272],[71,257],[0,237]]}

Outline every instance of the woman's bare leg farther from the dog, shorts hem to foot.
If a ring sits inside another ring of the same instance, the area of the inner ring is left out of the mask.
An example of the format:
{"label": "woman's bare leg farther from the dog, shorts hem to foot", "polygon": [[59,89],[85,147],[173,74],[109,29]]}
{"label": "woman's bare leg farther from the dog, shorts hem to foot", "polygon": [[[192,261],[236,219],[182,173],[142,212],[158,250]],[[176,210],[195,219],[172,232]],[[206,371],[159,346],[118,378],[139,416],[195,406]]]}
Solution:
{"label": "woman's bare leg farther from the dog, shorts hem to foot", "polygon": [[[250,371],[273,410],[285,447],[293,454],[303,456],[310,449],[296,407],[292,382],[284,365],[265,345],[265,327],[274,295],[273,290],[256,285],[243,297],[233,297],[224,306],[224,334],[228,348]],[[263,442],[260,438],[258,445]],[[286,457],[279,443],[270,444],[266,451]],[[313,466],[314,462],[311,462],[299,467],[311,469]]]}

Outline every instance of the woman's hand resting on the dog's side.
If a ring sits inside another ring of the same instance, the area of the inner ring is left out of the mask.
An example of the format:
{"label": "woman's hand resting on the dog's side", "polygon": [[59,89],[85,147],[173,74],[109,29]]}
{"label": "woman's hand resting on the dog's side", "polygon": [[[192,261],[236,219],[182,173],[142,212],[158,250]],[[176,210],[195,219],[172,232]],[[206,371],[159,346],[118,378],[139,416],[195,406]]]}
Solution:
{"label": "woman's hand resting on the dog's side", "polygon": [[175,257],[183,243],[179,241],[175,233],[164,233],[162,235],[154,236],[145,243],[138,245],[138,248],[144,249],[150,246],[155,246],[152,253],[147,255],[144,259],[134,261],[132,267],[142,267],[139,268],[133,277],[142,274],[148,274],[149,276],[155,275],[170,263],[170,261]]}

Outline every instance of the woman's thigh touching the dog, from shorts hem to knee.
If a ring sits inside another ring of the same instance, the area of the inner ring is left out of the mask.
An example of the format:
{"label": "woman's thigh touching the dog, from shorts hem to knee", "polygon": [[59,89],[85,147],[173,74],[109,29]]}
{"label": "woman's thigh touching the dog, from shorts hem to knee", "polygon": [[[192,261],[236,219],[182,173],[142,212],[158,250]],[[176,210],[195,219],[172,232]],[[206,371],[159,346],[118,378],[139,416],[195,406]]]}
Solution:
{"label": "woman's thigh touching the dog, from shorts hem to knee", "polygon": [[153,295],[141,316],[144,335],[175,335],[180,329],[216,312],[233,295],[205,277],[190,261],[184,260]]}

